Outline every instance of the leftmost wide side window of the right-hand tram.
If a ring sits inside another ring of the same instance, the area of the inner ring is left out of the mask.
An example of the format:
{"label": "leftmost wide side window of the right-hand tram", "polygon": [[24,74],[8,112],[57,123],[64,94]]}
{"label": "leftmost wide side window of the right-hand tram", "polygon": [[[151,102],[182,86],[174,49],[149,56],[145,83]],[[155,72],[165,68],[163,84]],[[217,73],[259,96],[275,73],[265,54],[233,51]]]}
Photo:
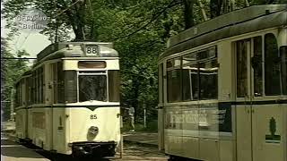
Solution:
{"label": "leftmost wide side window of the right-hand tram", "polygon": [[180,57],[167,62],[168,102],[181,100]]}

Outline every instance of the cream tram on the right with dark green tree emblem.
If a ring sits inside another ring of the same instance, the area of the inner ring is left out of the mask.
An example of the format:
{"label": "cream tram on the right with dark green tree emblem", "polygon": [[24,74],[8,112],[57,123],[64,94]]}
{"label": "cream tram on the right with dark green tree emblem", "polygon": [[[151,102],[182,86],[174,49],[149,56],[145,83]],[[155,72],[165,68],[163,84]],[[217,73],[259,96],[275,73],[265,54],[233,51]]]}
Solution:
{"label": "cream tram on the right with dark green tree emblem", "polygon": [[170,160],[287,161],[287,4],[224,14],[159,58],[159,148]]}

